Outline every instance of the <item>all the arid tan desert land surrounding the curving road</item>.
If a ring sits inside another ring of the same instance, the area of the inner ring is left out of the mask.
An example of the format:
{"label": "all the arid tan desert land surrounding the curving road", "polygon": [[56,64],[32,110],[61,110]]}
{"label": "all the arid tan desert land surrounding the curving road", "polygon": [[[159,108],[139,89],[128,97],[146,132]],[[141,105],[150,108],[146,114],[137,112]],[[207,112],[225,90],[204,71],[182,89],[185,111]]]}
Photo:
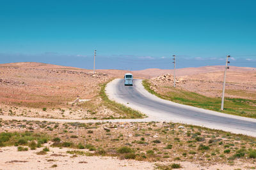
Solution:
{"label": "all the arid tan desert land surrounding the curving road", "polygon": [[[0,64],[0,169],[255,169],[256,141],[250,136],[172,122],[111,122],[147,116],[109,101],[104,94],[106,83],[126,72],[93,74],[36,62]],[[177,69],[177,89],[172,89],[171,70],[131,73],[170,100],[172,92],[211,99],[221,95],[222,66]],[[250,111],[242,116],[253,117],[256,69],[231,66],[226,90],[228,99],[248,104]],[[26,117],[109,122],[39,122]]]}

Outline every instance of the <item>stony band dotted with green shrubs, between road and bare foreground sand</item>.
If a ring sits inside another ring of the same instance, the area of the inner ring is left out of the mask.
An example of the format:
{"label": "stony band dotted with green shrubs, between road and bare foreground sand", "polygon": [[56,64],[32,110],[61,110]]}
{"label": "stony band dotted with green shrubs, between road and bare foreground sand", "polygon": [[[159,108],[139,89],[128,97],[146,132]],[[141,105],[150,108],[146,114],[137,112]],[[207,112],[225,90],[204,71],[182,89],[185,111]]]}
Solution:
{"label": "stony band dotted with green shrubs, between road and bare foreground sand", "polygon": [[170,162],[169,165],[157,164],[158,169],[179,168],[182,161],[202,165],[233,165],[237,160],[253,164],[256,161],[255,138],[193,125],[166,122],[57,124],[25,120],[0,123],[2,129],[15,131],[0,133],[1,147],[17,146],[17,152],[35,150],[37,155],[47,155],[52,147],[58,147],[69,148],[67,153],[72,157],[102,155]]}

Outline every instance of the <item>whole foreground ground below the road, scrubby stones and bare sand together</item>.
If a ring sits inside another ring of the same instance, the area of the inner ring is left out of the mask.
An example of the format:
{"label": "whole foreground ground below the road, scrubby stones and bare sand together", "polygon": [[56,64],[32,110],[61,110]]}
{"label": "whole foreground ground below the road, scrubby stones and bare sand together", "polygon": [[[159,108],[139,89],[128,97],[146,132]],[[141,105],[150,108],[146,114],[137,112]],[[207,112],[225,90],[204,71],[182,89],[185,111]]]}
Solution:
{"label": "whole foreground ground below the road, scrubby stones and bare sand together", "polygon": [[1,120],[0,125],[0,145],[8,146],[0,148],[0,169],[156,169],[172,164],[255,169],[255,138],[191,125],[26,120]]}

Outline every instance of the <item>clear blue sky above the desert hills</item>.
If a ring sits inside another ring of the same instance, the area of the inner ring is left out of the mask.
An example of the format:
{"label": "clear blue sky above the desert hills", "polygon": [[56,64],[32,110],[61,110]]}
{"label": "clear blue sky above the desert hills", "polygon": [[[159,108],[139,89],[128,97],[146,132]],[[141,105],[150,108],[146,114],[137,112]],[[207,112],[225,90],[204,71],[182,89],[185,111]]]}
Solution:
{"label": "clear blue sky above the desert hills", "polygon": [[256,66],[256,1],[0,1],[0,63]]}

